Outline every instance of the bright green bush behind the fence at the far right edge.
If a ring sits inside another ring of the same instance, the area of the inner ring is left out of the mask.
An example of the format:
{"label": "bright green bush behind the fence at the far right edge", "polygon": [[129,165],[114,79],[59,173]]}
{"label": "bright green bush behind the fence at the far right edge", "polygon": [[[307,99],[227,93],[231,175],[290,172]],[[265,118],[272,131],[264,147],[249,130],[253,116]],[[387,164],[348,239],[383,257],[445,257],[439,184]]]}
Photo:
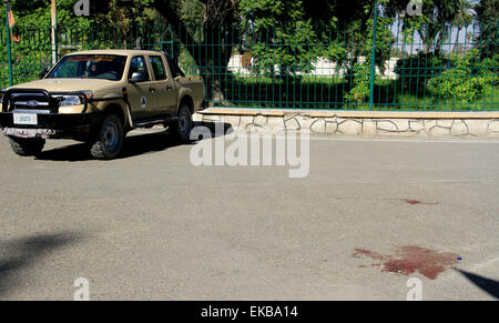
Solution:
{"label": "bright green bush behind the fence at the far right edge", "polygon": [[473,103],[481,100],[499,79],[497,73],[487,72],[487,70],[477,74],[477,70],[473,70],[477,58],[478,51],[476,50],[464,57],[452,55],[455,68],[428,80],[428,90],[438,99],[452,100],[458,103]]}

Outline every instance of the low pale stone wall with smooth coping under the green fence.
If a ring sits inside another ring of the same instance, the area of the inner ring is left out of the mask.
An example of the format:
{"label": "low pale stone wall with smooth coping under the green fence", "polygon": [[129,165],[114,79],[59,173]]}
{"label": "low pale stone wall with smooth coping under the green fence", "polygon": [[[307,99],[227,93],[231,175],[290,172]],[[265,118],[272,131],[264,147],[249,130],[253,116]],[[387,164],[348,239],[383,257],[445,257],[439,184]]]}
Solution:
{"label": "low pale stone wall with smooth coping under the green fence", "polygon": [[498,112],[369,112],[208,109],[195,114],[203,123],[225,122],[245,131],[309,130],[349,137],[499,138]]}

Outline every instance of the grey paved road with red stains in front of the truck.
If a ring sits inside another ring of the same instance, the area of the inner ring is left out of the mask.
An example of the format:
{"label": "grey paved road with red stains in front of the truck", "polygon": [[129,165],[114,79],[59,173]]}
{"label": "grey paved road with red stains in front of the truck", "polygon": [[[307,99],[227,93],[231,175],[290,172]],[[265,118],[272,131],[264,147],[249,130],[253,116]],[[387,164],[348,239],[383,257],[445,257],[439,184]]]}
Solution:
{"label": "grey paved road with red stains in front of the truck", "polygon": [[497,141],[317,137],[305,179],[191,148],[135,133],[115,161],[71,141],[37,160],[1,138],[0,299],[72,300],[78,277],[92,300],[405,300],[409,277],[424,300],[499,296]]}

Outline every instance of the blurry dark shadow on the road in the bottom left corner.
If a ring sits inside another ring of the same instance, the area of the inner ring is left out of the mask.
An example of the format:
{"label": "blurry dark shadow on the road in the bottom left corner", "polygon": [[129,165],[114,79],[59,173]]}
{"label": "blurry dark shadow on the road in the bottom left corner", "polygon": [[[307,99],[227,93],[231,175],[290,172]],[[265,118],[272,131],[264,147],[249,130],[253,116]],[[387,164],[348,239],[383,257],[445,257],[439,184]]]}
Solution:
{"label": "blurry dark shadow on the road in the bottom left corner", "polygon": [[19,285],[17,276],[37,261],[68,244],[82,240],[74,232],[39,234],[12,241],[0,241],[0,297]]}

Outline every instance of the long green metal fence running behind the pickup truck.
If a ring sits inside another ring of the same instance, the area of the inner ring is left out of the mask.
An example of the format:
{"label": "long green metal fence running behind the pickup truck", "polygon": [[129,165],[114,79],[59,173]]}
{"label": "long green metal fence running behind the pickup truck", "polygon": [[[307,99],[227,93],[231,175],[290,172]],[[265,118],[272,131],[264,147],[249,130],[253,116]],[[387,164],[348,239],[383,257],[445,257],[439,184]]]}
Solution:
{"label": "long green metal fence running behind the pickup truck", "polygon": [[[307,33],[297,27],[293,39],[251,26],[59,28],[57,55],[138,46],[164,49],[187,74],[204,77],[206,100],[216,107],[499,110],[498,40],[480,38],[477,24],[428,28],[438,30],[431,41],[404,31],[399,22],[377,23],[376,33],[373,27],[315,26]],[[51,64],[50,29],[16,33],[19,41],[10,40],[9,64],[9,33],[7,27],[0,29],[1,88],[37,80]]]}

